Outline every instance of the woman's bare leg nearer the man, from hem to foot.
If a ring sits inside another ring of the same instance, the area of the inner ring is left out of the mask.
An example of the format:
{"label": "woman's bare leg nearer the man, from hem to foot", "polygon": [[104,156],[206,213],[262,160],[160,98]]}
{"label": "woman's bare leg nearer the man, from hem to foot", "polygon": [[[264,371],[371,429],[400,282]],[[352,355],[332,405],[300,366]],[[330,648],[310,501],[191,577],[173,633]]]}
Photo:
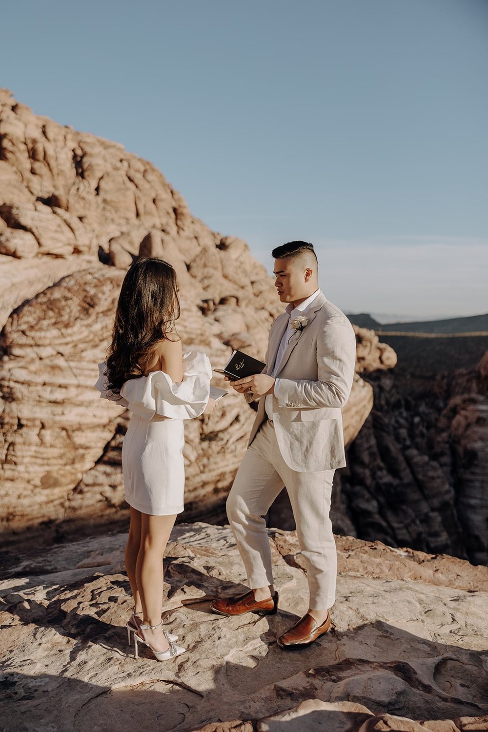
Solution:
{"label": "woman's bare leg nearer the man, from hem to foot", "polygon": [[[176,514],[171,516],[140,515],[140,547],[135,565],[135,580],[144,613],[144,624],[161,622],[163,567],[165,553]],[[144,630],[147,640],[156,651],[168,650],[168,641],[162,627]]]}

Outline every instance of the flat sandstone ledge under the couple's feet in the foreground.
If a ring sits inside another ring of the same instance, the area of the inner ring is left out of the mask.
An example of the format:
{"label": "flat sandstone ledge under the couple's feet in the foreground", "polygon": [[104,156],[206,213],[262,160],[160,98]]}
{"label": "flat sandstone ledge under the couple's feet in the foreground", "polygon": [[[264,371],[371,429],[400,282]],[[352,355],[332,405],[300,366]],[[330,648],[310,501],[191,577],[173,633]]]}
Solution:
{"label": "flat sandstone ledge under the couple's feet in the foreground", "polygon": [[270,534],[277,615],[227,618],[209,600],[245,582],[229,527],[173,530],[163,618],[187,653],[159,663],[127,647],[124,534],[12,559],[0,583],[2,729],[488,729],[487,567],[337,537],[333,630],[286,652],[276,638],[307,609],[307,583],[296,535]]}

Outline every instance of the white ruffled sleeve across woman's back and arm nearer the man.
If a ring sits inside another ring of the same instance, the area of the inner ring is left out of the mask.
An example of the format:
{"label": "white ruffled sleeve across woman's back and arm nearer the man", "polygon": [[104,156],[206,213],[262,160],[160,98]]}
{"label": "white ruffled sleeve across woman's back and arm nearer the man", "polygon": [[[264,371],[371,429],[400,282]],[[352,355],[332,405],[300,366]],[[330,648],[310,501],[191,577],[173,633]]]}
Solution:
{"label": "white ruffled sleeve across woman's back and arm nearer the man", "polygon": [[208,356],[189,351],[183,356],[183,381],[173,384],[164,371],[131,378],[120,392],[129,409],[139,417],[152,419],[158,414],[170,419],[199,417],[210,396],[211,365]]}

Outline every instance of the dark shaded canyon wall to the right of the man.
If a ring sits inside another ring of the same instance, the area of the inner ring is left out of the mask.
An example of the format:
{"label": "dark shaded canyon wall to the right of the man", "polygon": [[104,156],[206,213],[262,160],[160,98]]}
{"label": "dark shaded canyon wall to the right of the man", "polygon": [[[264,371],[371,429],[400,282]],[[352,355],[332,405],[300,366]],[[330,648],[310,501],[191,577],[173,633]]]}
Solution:
{"label": "dark shaded canyon wall to the right of the man", "polygon": [[488,352],[450,375],[364,378],[375,406],[340,476],[357,535],[488,564]]}

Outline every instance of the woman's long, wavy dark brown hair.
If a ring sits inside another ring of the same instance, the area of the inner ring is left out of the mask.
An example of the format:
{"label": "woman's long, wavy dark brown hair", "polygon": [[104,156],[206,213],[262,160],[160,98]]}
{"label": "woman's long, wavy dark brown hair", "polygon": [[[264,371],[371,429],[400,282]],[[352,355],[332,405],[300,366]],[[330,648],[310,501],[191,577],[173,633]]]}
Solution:
{"label": "woman's long, wavy dark brown hair", "polygon": [[119,393],[124,381],[144,373],[156,343],[175,333],[179,315],[173,267],[163,259],[136,259],[127,270],[117,303],[107,352],[109,389]]}

